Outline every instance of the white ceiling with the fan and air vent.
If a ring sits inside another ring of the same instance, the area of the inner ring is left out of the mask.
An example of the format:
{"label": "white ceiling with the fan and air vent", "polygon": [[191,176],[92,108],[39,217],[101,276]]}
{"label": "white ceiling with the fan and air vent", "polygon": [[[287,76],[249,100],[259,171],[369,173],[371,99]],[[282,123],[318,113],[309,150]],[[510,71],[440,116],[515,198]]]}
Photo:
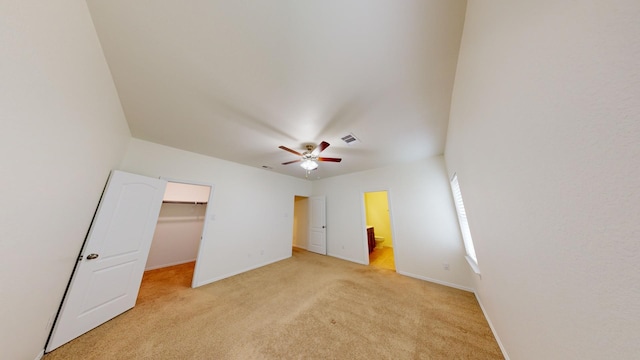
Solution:
{"label": "white ceiling with the fan and air vent", "polygon": [[278,146],[325,140],[310,179],[444,150],[465,1],[87,3],[136,138],[301,178]]}

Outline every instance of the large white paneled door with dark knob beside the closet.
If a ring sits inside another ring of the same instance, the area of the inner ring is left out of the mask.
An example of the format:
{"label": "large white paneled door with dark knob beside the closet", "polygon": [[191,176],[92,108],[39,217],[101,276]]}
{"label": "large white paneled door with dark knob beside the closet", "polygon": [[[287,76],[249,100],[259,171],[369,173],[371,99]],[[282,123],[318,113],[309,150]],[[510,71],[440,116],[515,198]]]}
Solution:
{"label": "large white paneled door with dark knob beside the closet", "polygon": [[112,172],[47,352],[135,305],[165,185],[165,180]]}

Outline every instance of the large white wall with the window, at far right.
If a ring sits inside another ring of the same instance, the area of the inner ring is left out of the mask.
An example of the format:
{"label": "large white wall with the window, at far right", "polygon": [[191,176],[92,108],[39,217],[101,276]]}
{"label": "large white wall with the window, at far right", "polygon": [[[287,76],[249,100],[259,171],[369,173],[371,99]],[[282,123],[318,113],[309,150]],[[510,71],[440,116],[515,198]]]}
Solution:
{"label": "large white wall with the window, at far right", "polygon": [[640,354],[640,2],[470,1],[446,162],[512,359]]}

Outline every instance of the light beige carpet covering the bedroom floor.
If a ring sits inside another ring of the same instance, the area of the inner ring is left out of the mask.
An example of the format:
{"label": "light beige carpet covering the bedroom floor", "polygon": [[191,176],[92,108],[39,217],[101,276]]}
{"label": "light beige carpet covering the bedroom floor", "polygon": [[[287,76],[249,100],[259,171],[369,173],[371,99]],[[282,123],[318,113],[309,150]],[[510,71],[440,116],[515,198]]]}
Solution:
{"label": "light beige carpet covering the bedroom floor", "polygon": [[192,267],[43,359],[503,358],[472,293],[299,249],[196,289]]}

